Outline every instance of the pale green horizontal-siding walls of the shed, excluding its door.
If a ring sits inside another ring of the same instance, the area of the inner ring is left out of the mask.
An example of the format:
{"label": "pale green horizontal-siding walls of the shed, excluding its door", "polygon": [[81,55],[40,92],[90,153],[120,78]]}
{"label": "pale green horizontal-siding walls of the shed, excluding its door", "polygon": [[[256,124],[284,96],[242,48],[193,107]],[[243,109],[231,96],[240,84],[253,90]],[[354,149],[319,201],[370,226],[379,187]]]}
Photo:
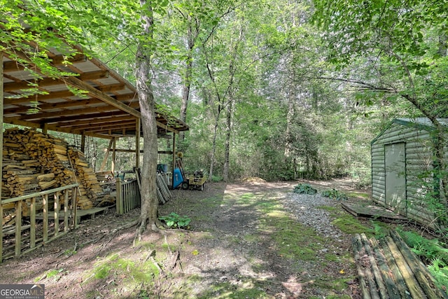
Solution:
{"label": "pale green horizontal-siding walls of the shed, excluding its door", "polygon": [[372,141],[372,200],[386,208],[385,146],[405,142],[406,209],[400,214],[424,225],[431,225],[435,214],[424,200],[433,178],[433,137],[423,127],[394,122]]}

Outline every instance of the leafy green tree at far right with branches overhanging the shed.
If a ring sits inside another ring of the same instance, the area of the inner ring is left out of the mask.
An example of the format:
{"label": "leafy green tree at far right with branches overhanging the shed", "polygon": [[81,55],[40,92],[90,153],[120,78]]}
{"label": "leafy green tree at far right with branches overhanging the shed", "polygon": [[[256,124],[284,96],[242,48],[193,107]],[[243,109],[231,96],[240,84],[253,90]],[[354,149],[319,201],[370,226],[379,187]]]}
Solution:
{"label": "leafy green tree at far right with branches overhanging the shed", "polygon": [[437,132],[435,176],[442,178],[440,191],[444,193],[446,137],[437,118],[446,116],[448,104],[448,88],[442,83],[446,76],[439,72],[447,67],[448,2],[315,0],[314,4],[314,20],[325,29],[329,59],[337,69],[346,71],[356,60],[366,66],[357,76],[333,79],[352,83],[367,95],[386,95],[391,102],[404,99],[433,123]]}

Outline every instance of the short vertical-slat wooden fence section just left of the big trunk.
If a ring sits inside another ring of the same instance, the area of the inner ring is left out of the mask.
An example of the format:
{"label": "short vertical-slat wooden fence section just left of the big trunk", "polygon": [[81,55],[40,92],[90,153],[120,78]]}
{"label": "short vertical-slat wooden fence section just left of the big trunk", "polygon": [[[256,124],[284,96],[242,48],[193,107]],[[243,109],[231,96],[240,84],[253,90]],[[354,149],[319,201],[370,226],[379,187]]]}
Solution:
{"label": "short vertical-slat wooden fence section just left of the big trunk", "polygon": [[117,214],[125,214],[140,207],[140,190],[137,179],[122,181],[117,177]]}

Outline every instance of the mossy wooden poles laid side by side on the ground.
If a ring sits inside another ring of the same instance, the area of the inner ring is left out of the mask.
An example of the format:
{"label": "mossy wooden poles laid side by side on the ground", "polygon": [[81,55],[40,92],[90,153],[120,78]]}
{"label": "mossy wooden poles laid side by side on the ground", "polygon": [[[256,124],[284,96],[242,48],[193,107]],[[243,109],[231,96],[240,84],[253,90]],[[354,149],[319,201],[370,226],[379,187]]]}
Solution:
{"label": "mossy wooden poles laid side by side on the ground", "polygon": [[356,235],[353,252],[364,299],[448,298],[395,231],[379,242]]}

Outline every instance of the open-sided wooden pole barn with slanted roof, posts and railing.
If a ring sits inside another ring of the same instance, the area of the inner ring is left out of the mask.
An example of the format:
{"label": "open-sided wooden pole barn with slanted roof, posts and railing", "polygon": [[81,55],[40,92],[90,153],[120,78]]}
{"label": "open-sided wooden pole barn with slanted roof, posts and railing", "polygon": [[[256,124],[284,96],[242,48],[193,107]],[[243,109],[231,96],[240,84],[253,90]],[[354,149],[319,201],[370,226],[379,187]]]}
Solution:
{"label": "open-sided wooden pole barn with slanted roof, posts and railing", "polygon": [[[43,71],[30,61],[25,66],[15,60],[14,57],[9,57],[6,53],[0,53],[0,62],[2,62],[0,78],[3,81],[3,84],[0,84],[0,111],[3,113],[3,123],[40,129],[43,133],[52,130],[79,134],[82,145],[85,144],[84,139],[87,136],[110,139],[111,144],[120,137],[135,137],[135,148],[132,151],[136,155],[135,166],[139,167],[139,155],[141,153],[139,140],[142,128],[139,101],[134,86],[101,61],[84,55],[80,48],[75,47],[74,50],[80,54],[69,58],[69,64],[65,63],[66,57],[57,50],[47,51],[52,67],[55,67],[61,73],[73,75],[58,78],[45,76]],[[27,60],[26,55],[20,53],[20,51],[15,54],[22,60]],[[39,74],[41,78],[36,79],[29,71],[30,69]],[[29,95],[27,93],[30,83],[38,90],[37,94]],[[81,93],[72,90],[80,90]],[[158,134],[164,136],[171,134],[173,144],[175,144],[176,134],[188,130],[188,126],[181,120],[162,113],[157,115],[157,125]],[[0,145],[3,148],[3,134],[0,134]],[[174,152],[175,148],[173,146],[173,161],[175,159]],[[2,155],[0,167],[3,169],[3,152],[0,152],[0,154]],[[36,198],[42,199],[44,213],[43,237],[40,240],[41,242],[48,242],[51,239],[48,236],[48,211],[52,209],[48,207],[48,202],[51,202],[49,196],[54,197],[52,201],[55,202],[54,218],[56,219],[59,217],[57,215],[59,202],[62,202],[64,209],[74,206],[76,211],[76,194],[78,193],[76,188],[78,188],[78,184],[68,185],[62,189],[57,188],[53,193],[42,191],[26,195],[26,198],[23,197],[19,200],[18,197],[2,199],[0,214],[3,214],[2,204],[15,204],[15,215],[21,217],[22,203],[27,200],[31,204],[32,223],[31,228],[27,228],[30,230],[31,236],[29,250],[35,249],[38,246],[35,227]],[[72,197],[71,202],[69,202],[69,196]],[[65,212],[64,232],[69,228],[66,217],[67,211]],[[73,218],[75,219],[74,225],[76,225],[76,215]],[[13,246],[15,246],[16,256],[21,252],[23,253],[20,242],[23,228],[20,226],[20,222],[17,221],[19,224],[11,229],[11,233],[15,233],[15,245]],[[3,224],[0,223],[0,240],[3,240],[3,229]],[[53,237],[62,235],[57,227],[55,227],[53,233]],[[2,252],[3,242],[0,242],[0,263]]]}

